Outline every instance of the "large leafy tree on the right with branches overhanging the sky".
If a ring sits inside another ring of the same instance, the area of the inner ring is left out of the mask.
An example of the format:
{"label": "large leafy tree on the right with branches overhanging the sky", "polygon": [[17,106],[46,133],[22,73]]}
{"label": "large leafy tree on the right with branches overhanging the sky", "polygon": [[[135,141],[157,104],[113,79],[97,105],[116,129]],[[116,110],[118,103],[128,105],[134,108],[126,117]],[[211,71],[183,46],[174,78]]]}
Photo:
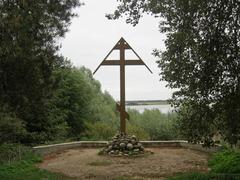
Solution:
{"label": "large leafy tree on the right with branches overhanging the sky", "polygon": [[[127,23],[133,25],[144,13],[160,19],[160,32],[167,35],[166,50],[155,50],[154,55],[159,57],[161,80],[178,89],[173,103],[180,106],[180,124],[187,138],[210,142],[212,133],[219,132],[236,144],[240,139],[239,0],[119,2],[108,18],[125,14]],[[185,113],[186,108],[194,113]],[[211,131],[199,126],[203,122]],[[195,132],[187,131],[190,128]]]}

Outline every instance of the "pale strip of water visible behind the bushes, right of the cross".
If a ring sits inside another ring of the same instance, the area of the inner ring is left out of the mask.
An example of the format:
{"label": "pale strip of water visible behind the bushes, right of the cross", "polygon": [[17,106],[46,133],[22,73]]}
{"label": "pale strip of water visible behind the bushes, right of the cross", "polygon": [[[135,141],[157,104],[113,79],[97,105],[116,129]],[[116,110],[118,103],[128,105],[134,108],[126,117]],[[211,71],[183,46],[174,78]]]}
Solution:
{"label": "pale strip of water visible behind the bushes, right of the cross", "polygon": [[163,105],[137,105],[137,106],[126,106],[126,108],[129,109],[135,109],[138,110],[140,113],[143,113],[145,109],[158,109],[162,113],[170,113],[173,108],[171,107],[170,104],[163,104]]}

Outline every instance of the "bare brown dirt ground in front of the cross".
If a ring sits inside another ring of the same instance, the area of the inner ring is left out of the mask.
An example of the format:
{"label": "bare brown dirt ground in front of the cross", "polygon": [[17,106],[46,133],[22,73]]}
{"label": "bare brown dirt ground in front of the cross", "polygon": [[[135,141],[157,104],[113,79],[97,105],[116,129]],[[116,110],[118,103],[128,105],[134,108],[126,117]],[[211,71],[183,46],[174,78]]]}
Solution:
{"label": "bare brown dirt ground in front of the cross", "polygon": [[142,157],[108,157],[99,149],[71,149],[46,156],[40,168],[76,179],[165,179],[178,172],[208,170],[209,155],[183,148],[152,148]]}

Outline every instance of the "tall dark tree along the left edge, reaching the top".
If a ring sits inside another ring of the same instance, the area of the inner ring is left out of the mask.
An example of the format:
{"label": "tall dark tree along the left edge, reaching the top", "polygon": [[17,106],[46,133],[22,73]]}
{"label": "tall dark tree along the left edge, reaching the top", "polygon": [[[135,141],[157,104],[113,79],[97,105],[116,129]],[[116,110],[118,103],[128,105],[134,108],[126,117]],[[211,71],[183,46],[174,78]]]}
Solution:
{"label": "tall dark tree along the left edge, reaching the top", "polygon": [[0,1],[0,105],[22,119],[25,142],[54,138],[59,122],[51,119],[49,97],[55,68],[64,66],[57,43],[79,6],[68,1]]}

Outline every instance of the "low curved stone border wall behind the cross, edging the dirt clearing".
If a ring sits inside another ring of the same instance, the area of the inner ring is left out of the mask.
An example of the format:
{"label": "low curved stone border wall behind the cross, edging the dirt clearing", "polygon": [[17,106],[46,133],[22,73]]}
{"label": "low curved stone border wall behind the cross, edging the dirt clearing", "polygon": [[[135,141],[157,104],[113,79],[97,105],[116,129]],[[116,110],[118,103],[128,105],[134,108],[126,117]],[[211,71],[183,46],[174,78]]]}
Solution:
{"label": "low curved stone border wall behind the cross, edging the dirt clearing", "polygon": [[[141,141],[146,148],[157,148],[157,147],[183,147],[186,149],[197,150],[201,152],[213,153],[221,149],[221,146],[215,146],[212,148],[203,148],[200,144],[191,144],[187,141]],[[103,148],[107,144],[107,141],[75,141],[69,143],[51,144],[33,147],[34,152],[47,155],[64,151],[73,148]]]}

